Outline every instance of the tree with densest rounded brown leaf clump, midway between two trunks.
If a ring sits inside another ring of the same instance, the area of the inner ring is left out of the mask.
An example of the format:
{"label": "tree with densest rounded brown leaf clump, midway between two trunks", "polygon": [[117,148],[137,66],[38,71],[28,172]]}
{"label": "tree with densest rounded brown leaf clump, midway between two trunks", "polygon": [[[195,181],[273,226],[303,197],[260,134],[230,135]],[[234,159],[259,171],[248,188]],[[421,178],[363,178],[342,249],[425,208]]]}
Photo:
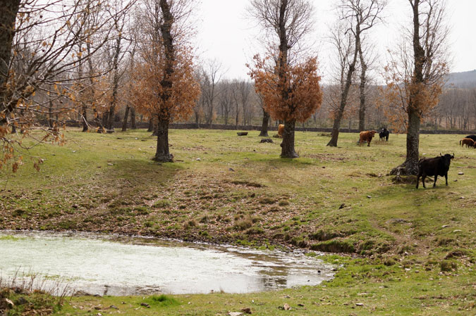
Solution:
{"label": "tree with densest rounded brown leaf clump, midway between two trunks", "polygon": [[254,65],[248,65],[250,76],[264,109],[274,120],[284,122],[281,157],[297,158],[295,122],[310,118],[322,103],[317,60],[303,58],[313,7],[306,0],[252,0],[248,11],[272,35],[267,37],[267,56],[255,56]]}

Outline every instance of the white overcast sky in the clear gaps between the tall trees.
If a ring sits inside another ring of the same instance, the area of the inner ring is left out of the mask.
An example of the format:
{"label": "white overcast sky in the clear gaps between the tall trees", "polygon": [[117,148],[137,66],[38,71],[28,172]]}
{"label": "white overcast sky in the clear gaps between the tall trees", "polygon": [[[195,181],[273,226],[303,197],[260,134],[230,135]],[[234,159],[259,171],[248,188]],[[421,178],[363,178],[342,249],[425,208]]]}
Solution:
{"label": "white overcast sky in the clear gaps between the tall trees", "polygon": [[[249,0],[201,0],[197,18],[197,43],[202,60],[221,62],[228,78],[248,78],[245,63],[260,52],[259,29],[246,14]],[[311,0],[315,6],[314,48],[324,80],[331,70],[331,48],[327,42],[329,25],[335,20],[336,0]],[[448,0],[448,22],[452,27],[449,46],[453,55],[451,72],[476,69],[476,0]],[[380,62],[385,63],[386,49],[395,48],[398,31],[411,23],[408,0],[389,0],[384,11],[385,25],[372,36],[377,42]]]}

